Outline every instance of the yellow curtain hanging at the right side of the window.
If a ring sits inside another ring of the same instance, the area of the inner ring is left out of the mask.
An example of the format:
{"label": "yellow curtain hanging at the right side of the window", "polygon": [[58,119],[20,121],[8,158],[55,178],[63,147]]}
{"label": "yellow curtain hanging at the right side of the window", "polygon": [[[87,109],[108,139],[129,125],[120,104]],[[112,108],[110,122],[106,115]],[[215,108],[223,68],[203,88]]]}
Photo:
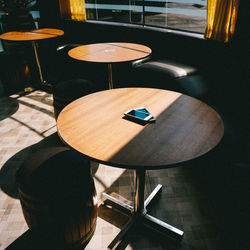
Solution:
{"label": "yellow curtain hanging at the right side of the window", "polygon": [[228,42],[237,21],[240,0],[207,0],[206,38]]}

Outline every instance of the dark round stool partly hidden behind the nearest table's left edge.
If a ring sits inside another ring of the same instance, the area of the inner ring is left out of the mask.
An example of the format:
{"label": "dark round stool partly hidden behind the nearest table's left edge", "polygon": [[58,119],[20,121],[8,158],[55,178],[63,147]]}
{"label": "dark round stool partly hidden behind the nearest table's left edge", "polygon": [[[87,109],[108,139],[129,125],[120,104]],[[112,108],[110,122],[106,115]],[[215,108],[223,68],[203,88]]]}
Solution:
{"label": "dark round stool partly hidden behind the nearest table's left edge", "polygon": [[80,78],[66,80],[54,85],[52,93],[55,119],[66,105],[92,92],[91,82]]}

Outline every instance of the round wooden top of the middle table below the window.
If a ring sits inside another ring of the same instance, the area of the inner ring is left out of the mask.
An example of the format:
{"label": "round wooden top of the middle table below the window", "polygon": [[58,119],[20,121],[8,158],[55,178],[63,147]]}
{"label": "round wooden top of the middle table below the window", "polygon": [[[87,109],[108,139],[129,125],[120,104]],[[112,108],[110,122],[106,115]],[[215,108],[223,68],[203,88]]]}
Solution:
{"label": "round wooden top of the middle table below the window", "polygon": [[152,50],[135,43],[94,43],[71,49],[70,57],[86,62],[128,62],[149,56]]}

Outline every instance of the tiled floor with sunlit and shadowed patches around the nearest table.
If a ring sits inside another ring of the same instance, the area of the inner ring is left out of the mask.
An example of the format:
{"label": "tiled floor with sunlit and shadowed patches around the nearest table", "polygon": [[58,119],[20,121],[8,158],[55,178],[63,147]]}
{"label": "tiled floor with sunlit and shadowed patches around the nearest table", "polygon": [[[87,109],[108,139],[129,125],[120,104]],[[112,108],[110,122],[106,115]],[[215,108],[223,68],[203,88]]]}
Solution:
{"label": "tiled floor with sunlit and shadowed patches around the nearest table", "polygon": [[[0,249],[5,249],[27,229],[17,194],[15,173],[31,152],[61,145],[53,116],[52,96],[43,91],[0,97]],[[92,163],[99,199],[95,234],[86,249],[107,249],[127,220],[125,215],[105,207],[100,194],[119,194],[132,200],[133,172]],[[216,210],[199,189],[189,168],[148,171],[146,195],[163,184],[160,199],[150,214],[185,232],[181,243],[137,230],[126,237],[125,249],[224,250]],[[130,202],[131,203],[131,202]],[[226,249],[225,249],[226,250]],[[235,249],[237,250],[237,249]]]}

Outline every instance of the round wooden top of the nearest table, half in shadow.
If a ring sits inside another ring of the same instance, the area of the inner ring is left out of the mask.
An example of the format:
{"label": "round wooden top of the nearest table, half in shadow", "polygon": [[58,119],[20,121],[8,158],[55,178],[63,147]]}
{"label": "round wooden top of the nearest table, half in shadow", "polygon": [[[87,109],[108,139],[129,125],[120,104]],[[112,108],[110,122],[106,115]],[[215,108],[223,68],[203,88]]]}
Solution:
{"label": "round wooden top of the nearest table, half in shadow", "polygon": [[[123,112],[145,107],[155,123],[140,125]],[[173,167],[213,149],[224,134],[221,117],[207,104],[178,92],[120,88],[84,96],[57,119],[71,148],[106,165],[138,169]]]}

